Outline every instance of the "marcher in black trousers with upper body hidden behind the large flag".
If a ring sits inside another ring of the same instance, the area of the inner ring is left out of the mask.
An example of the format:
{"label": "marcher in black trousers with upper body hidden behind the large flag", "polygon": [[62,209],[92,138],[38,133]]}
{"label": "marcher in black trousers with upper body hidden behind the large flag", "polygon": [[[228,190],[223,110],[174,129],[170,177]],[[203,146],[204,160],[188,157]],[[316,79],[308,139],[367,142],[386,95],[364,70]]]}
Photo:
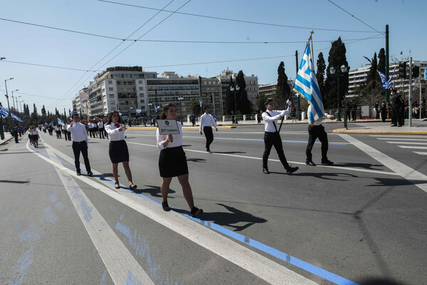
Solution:
{"label": "marcher in black trousers with upper body hidden behind the large flag", "polygon": [[[307,114],[310,114],[312,105],[308,106]],[[334,115],[328,115],[325,113],[325,117],[331,120],[335,120]],[[322,120],[318,120],[314,125],[308,125],[308,143],[307,148],[305,149],[306,165],[316,166],[315,162],[312,160],[312,148],[315,145],[316,139],[319,138],[320,142],[322,142],[322,165],[333,165],[334,162],[327,159],[327,133],[325,132],[325,127],[322,126]]]}

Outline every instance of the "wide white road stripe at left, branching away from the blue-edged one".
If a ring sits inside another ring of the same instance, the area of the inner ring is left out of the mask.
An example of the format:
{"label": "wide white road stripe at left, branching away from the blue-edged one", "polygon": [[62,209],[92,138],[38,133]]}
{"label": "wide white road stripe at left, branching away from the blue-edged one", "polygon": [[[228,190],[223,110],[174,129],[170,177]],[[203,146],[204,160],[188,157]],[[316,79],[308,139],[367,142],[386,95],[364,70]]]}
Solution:
{"label": "wide white road stripe at left, branching away from the blue-edged one", "polygon": [[112,281],[115,284],[126,284],[128,276],[131,273],[135,280],[142,282],[141,284],[154,284],[75,182],[73,176],[77,177],[77,175],[75,173],[73,173],[74,175],[70,175],[68,168],[59,165],[59,162],[53,161],[52,157],[55,155],[49,148],[47,148],[47,152],[51,156],[50,160],[31,150],[28,142],[26,147],[55,167],[90,239],[100,254],[107,271],[110,273]]}

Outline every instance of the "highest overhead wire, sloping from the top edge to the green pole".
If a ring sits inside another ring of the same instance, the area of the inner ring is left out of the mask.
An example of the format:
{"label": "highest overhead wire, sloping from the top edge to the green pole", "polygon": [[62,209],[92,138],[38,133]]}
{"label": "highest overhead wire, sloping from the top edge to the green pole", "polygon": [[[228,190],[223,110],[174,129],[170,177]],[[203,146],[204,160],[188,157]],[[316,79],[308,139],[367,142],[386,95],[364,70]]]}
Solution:
{"label": "highest overhead wire, sloping from the top edge to the green pole", "polygon": [[[125,3],[115,2],[115,1],[107,1],[107,0],[97,0],[97,1],[110,3],[110,4],[117,4],[117,5],[122,5],[122,6],[130,6],[130,7],[141,8],[141,9],[159,10],[159,9],[151,8],[151,7],[147,7],[147,6],[125,4]],[[173,12],[173,11],[164,10],[164,12]],[[234,21],[234,22],[240,22],[240,23],[246,23],[246,24],[256,24],[256,25],[263,25],[263,26],[278,26],[278,27],[283,27],[283,28],[302,28],[302,29],[317,30],[317,31],[342,31],[342,32],[349,32],[349,33],[374,33],[373,31],[352,31],[352,30],[339,30],[339,29],[334,29],[334,28],[314,28],[314,27],[290,26],[290,25],[282,25],[282,24],[270,24],[270,23],[261,23],[261,22],[255,22],[255,21],[245,21],[245,20],[215,17],[215,16],[191,14],[191,13],[184,13],[184,12],[176,12],[176,14],[187,15],[187,16],[196,16],[196,17],[208,18],[208,19],[216,19],[216,20],[221,20],[221,21]]]}

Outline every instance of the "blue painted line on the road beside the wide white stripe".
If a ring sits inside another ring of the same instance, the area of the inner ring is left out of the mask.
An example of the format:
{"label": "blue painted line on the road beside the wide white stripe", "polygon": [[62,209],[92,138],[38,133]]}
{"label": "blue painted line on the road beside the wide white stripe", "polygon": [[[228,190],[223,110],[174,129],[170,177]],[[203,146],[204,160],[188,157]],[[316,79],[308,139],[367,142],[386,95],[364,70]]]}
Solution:
{"label": "blue painted line on the road beside the wide white stripe", "polygon": [[[34,149],[38,150],[36,148],[34,148]],[[38,150],[38,152],[41,152],[44,155],[47,155],[48,157],[52,157],[51,155],[48,155],[46,152],[42,152],[41,150]],[[66,165],[70,165],[69,163],[64,162],[63,160],[60,160],[60,158],[58,158],[58,157],[52,157],[52,158],[55,158],[56,160],[66,164]],[[73,165],[70,165],[70,166],[73,166]],[[104,180],[104,181],[110,182],[110,184],[114,183],[112,180],[109,180],[105,177],[95,177],[95,178],[97,178],[99,180]],[[122,185],[120,185],[120,186],[122,186]],[[128,192],[132,192],[133,194],[135,194],[139,197],[147,199],[149,202],[153,202],[154,204],[157,204],[159,206],[161,205],[160,202],[157,202],[153,199],[150,199],[149,197],[146,197],[145,195],[142,195],[140,193],[136,193],[136,192],[130,190],[129,187],[122,187],[122,189],[127,190]],[[297,259],[296,257],[292,257],[289,254],[286,254],[285,252],[280,252],[278,249],[274,249],[273,247],[269,247],[268,245],[265,245],[261,242],[257,242],[254,239],[250,239],[248,237],[245,237],[242,234],[238,234],[236,232],[233,232],[230,229],[226,229],[225,227],[222,227],[218,224],[215,224],[213,222],[206,221],[203,219],[191,217],[191,214],[185,210],[174,209],[174,208],[172,208],[172,209],[175,212],[178,212],[179,214],[182,214],[183,216],[188,217],[189,219],[193,219],[195,222],[199,222],[200,224],[204,224],[204,226],[206,226],[206,227],[210,227],[211,229],[214,229],[217,232],[221,232],[222,234],[225,234],[226,236],[231,237],[232,239],[236,239],[239,242],[243,242],[245,244],[248,244],[248,246],[250,246],[250,247],[254,247],[255,249],[260,250],[261,252],[265,252],[266,254],[270,254],[273,257],[276,257],[280,260],[288,262],[289,264],[297,266],[300,269],[303,269],[303,270],[308,271],[312,274],[315,274],[316,276],[320,276],[323,279],[326,279],[328,281],[333,282],[334,284],[338,284],[338,285],[359,285],[353,281],[345,279],[342,276],[339,276],[337,274],[333,274],[330,271],[327,271],[325,269],[322,269],[320,267],[312,265],[306,261],[302,261],[301,259]],[[131,277],[130,279],[127,280],[131,283],[127,283],[127,284],[134,284],[134,283],[132,283],[132,282],[135,282],[135,280],[132,279],[132,274],[128,275],[128,277]]]}

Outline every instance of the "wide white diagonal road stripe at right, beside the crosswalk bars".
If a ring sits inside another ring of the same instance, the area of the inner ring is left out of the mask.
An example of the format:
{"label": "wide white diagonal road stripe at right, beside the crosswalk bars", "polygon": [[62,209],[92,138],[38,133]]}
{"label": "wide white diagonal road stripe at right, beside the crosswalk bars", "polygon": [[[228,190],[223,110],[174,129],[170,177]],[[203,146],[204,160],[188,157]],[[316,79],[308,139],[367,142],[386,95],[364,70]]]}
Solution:
{"label": "wide white diagonal road stripe at right, beside the crosswalk bars", "polygon": [[[404,177],[406,180],[416,185],[416,187],[420,188],[424,192],[427,192],[427,176],[423,175],[421,172],[413,170],[411,167],[404,165],[403,163],[394,160],[393,158],[385,155],[379,150],[374,149],[367,145],[364,142],[361,142],[350,135],[339,134],[342,138],[352,143],[355,147],[358,147],[360,150],[365,152],[370,157],[374,158],[374,160],[378,160],[382,165],[389,167],[390,170],[396,172],[401,177]],[[421,183],[420,181],[425,181]]]}

